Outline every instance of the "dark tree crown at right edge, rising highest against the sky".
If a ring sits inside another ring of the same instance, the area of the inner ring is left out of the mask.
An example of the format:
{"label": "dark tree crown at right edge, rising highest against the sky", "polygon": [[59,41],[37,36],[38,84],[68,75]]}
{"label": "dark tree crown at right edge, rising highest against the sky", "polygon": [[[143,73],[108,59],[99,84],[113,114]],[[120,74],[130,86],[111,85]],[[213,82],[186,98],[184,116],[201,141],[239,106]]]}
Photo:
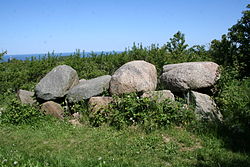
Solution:
{"label": "dark tree crown at right edge, rising highest against the sky", "polygon": [[[250,5],[247,6],[250,8]],[[213,40],[210,54],[213,59],[224,66],[241,66],[241,77],[249,76],[250,68],[250,11],[243,12],[241,19],[233,25],[221,40]]]}

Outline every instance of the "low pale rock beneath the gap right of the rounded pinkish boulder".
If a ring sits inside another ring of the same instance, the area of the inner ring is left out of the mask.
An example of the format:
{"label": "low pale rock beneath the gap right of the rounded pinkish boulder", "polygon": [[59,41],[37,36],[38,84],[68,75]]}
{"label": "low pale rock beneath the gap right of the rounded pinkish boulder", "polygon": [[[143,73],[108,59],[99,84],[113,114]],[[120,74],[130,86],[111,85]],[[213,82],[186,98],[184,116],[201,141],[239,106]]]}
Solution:
{"label": "low pale rock beneath the gap right of the rounded pinkish boulder", "polygon": [[170,90],[160,90],[160,91],[149,91],[143,93],[141,97],[148,97],[150,99],[156,100],[156,102],[160,103],[166,99],[174,100],[174,95]]}

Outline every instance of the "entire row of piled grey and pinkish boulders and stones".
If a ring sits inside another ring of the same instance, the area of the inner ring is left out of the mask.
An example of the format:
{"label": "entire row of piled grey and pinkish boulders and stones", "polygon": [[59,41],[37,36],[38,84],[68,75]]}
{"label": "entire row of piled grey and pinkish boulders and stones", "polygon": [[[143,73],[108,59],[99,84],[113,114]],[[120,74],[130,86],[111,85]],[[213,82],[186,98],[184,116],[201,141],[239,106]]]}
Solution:
{"label": "entire row of piled grey and pinkish boulders and stones", "polygon": [[[214,86],[219,79],[217,64],[192,62],[165,65],[160,79],[168,90],[155,91],[157,78],[155,66],[142,60],[124,64],[112,76],[104,75],[90,80],[79,80],[77,72],[72,67],[60,65],[40,80],[34,92],[19,90],[17,95],[23,104],[32,105],[36,100],[43,102],[42,112],[63,119],[64,110],[56,103],[61,99],[66,99],[68,103],[89,99],[90,109],[97,111],[113,100],[112,97],[99,96],[105,90],[111,95],[142,92],[141,98],[154,98],[156,102],[165,99],[175,100],[174,94],[182,93],[188,101],[196,105],[198,117],[208,120],[222,119],[212,98],[197,92]],[[74,120],[71,120],[71,123],[78,124]]]}

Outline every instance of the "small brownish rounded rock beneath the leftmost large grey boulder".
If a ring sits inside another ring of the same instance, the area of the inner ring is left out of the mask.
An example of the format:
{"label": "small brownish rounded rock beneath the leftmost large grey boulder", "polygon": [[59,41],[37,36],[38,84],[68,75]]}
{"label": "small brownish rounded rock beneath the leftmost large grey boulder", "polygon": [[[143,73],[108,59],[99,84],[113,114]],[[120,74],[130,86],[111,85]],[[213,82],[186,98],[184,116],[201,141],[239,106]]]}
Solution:
{"label": "small brownish rounded rock beneath the leftmost large grey boulder", "polygon": [[52,115],[56,118],[63,119],[63,108],[60,104],[55,103],[53,101],[47,101],[42,104],[41,111],[46,115]]}

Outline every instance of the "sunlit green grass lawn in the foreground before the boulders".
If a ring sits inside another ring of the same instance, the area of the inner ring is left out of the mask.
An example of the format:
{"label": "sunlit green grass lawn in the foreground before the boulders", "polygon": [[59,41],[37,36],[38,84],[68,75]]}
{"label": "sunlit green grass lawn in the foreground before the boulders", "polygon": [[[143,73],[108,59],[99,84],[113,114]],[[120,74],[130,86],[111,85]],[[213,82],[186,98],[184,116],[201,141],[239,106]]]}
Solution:
{"label": "sunlit green grass lawn in the foreground before the boulders", "polygon": [[74,127],[57,120],[0,125],[0,166],[250,166],[249,154],[232,152],[221,139],[172,127]]}

